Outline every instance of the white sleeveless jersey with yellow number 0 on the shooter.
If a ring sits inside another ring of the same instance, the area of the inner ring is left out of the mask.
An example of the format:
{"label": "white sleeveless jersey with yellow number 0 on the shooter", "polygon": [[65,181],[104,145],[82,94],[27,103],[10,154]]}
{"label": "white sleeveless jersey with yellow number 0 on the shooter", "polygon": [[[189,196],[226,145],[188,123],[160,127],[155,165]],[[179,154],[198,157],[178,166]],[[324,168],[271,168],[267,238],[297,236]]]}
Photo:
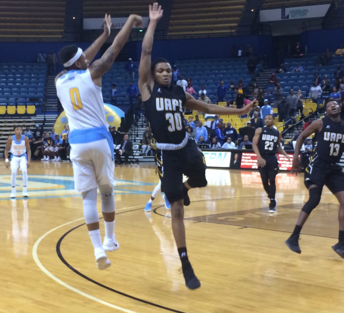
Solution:
{"label": "white sleeveless jersey with yellow number 0 on the shooter", "polygon": [[89,69],[68,71],[57,79],[56,91],[71,131],[108,127],[101,87],[92,81]]}

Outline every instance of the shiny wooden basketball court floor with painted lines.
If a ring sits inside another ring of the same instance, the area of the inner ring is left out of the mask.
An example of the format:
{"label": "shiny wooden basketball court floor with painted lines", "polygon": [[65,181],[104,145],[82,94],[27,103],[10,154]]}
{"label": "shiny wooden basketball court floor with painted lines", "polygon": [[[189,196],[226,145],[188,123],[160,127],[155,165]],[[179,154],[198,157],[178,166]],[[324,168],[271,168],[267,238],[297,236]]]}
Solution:
{"label": "shiny wooden basketball court floor with painted lines", "polygon": [[99,271],[71,164],[33,162],[29,200],[21,176],[17,199],[9,199],[3,164],[0,312],[343,312],[344,263],[331,249],[338,204],[328,189],[302,229],[302,254],[284,244],[308,199],[302,175],[277,176],[271,215],[258,172],[207,170],[209,186],[192,190],[185,208],[189,258],[202,284],[191,291],[162,196],[143,211],[158,183],[153,166],[116,166],[120,249]]}

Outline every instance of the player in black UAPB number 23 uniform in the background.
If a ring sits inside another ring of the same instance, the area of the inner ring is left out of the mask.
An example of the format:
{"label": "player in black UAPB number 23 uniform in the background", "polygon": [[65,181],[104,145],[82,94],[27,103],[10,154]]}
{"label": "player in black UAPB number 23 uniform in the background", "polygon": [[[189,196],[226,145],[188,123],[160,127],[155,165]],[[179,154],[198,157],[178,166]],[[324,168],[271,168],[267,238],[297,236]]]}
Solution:
{"label": "player in black UAPB number 23 uniform in the background", "polygon": [[276,153],[283,154],[288,160],[289,155],[280,147],[281,133],[273,128],[275,117],[268,114],[265,117],[265,127],[257,128],[253,137],[253,151],[258,156],[258,171],[263,187],[270,199],[269,212],[276,213],[276,175],[279,165]]}

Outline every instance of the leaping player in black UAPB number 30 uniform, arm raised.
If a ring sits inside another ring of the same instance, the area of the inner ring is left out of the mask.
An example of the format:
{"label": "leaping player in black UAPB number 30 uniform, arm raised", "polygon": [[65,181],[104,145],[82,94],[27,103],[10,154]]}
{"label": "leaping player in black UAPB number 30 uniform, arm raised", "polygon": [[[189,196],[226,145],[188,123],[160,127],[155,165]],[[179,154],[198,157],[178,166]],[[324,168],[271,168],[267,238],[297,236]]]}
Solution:
{"label": "leaping player in black UAPB number 30 uniform, arm raised", "polygon": [[[207,185],[203,155],[185,131],[183,107],[212,114],[245,114],[254,102],[242,109],[205,104],[185,93],[180,86],[171,86],[172,68],[165,59],[151,64],[153,36],[162,18],[161,6],[149,6],[150,22],[142,42],[139,66],[139,89],[157,148],[161,150],[161,182],[171,204],[172,230],[182,262],[185,284],[190,289],[201,286],[187,257],[184,205],[190,204],[187,190]],[[176,47],[177,48],[177,47]],[[189,177],[183,184],[183,174]]]}

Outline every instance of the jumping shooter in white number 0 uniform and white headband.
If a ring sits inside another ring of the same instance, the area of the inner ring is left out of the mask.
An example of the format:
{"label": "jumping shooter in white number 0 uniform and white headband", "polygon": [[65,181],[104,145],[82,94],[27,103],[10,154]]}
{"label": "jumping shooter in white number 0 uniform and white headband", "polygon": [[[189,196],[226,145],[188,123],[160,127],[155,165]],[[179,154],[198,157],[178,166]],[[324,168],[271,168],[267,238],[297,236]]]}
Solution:
{"label": "jumping shooter in white number 0 uniform and white headband", "polygon": [[[100,270],[111,265],[105,250],[119,248],[114,234],[114,142],[105,119],[101,77],[111,68],[131,28],[138,25],[142,25],[142,17],[130,15],[112,45],[92,65],[89,63],[110,35],[110,15],[105,15],[104,33],[86,51],[71,45],[58,52],[65,70],[56,76],[55,85],[71,130],[69,144],[75,190],[82,193],[85,222]],[[105,223],[103,243],[99,231],[97,186]]]}

